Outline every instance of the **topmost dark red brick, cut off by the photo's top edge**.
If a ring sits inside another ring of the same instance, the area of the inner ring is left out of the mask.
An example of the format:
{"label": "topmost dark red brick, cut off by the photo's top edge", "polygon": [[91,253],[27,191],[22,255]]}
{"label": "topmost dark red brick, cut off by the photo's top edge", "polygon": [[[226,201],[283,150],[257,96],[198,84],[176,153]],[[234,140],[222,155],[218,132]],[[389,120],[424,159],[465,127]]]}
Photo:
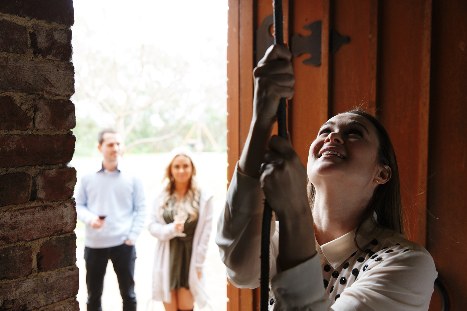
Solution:
{"label": "topmost dark red brick, cut off by the photo's top edge", "polygon": [[1,0],[0,12],[73,25],[73,0]]}

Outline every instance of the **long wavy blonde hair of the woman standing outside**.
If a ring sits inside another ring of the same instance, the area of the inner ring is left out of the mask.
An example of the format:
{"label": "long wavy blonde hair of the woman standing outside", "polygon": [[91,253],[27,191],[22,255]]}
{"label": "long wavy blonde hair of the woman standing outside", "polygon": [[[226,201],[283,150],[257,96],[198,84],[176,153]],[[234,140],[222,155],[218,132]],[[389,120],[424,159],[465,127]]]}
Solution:
{"label": "long wavy blonde hair of the woman standing outside", "polygon": [[[193,160],[191,159],[191,152],[186,152],[185,150],[181,149],[179,152],[174,152],[174,156],[170,161],[169,165],[165,168],[165,175],[163,178],[163,182],[165,183],[165,197],[163,200],[163,205],[161,208],[161,213],[164,210],[169,212],[170,218],[172,218],[172,210],[176,208],[180,208],[182,211],[188,214],[188,221],[194,221],[198,217],[199,212],[199,196],[201,193],[201,189],[198,186],[198,182],[196,180],[196,167],[193,164]],[[175,179],[172,175],[172,164],[174,159],[179,156],[183,155],[190,159],[191,167],[193,171],[191,172],[191,178],[188,182],[188,189],[185,195],[180,198],[177,202],[177,197],[175,195]]]}

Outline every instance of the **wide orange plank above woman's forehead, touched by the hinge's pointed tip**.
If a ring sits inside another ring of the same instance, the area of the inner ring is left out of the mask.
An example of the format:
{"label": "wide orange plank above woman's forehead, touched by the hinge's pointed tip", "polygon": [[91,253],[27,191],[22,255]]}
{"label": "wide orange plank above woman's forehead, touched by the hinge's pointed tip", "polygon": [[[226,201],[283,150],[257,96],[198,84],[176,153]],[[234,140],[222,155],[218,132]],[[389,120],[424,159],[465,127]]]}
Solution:
{"label": "wide orange plank above woman's forehead, touched by the hinge's pointed tip", "polygon": [[331,28],[350,37],[330,57],[330,116],[369,102],[370,0],[334,0]]}

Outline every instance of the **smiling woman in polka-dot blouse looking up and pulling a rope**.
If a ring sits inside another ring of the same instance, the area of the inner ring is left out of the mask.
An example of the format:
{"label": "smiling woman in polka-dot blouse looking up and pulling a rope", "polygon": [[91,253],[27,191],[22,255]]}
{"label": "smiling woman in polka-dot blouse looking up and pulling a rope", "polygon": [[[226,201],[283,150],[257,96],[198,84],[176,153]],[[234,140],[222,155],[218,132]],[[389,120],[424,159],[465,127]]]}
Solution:
{"label": "smiling woman in polka-dot blouse looking up and pulling a rope", "polygon": [[266,198],[276,220],[271,307],[428,310],[437,272],[428,251],[403,236],[396,154],[381,122],[358,109],[332,117],[311,144],[307,168],[290,141],[270,137],[279,99],[294,93],[290,59],[275,45],[254,70],[253,118],[216,236],[229,280],[259,286]]}

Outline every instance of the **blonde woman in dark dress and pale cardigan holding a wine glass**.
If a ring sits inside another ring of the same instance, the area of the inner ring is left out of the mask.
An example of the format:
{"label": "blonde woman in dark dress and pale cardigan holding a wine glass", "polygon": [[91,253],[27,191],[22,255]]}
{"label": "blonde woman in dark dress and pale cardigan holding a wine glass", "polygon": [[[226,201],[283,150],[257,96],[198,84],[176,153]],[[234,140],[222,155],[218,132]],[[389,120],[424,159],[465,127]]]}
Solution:
{"label": "blonde woman in dark dress and pale cardigan holding a wine glass", "polygon": [[153,299],[166,311],[193,310],[207,303],[203,265],[212,228],[212,193],[196,181],[188,148],[170,152],[164,180],[149,215],[149,232],[158,241],[154,257]]}

